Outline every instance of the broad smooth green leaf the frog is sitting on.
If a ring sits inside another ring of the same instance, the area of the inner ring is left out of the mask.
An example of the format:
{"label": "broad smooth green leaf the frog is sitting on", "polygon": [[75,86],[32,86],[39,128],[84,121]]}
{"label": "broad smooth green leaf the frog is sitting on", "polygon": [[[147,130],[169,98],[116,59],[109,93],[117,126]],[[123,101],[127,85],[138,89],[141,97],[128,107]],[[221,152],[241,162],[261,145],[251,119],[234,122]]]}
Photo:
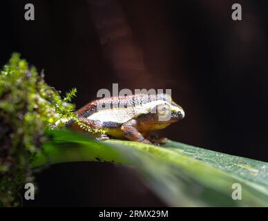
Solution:
{"label": "broad smooth green leaf the frog is sitting on", "polygon": [[[73,131],[48,131],[52,139],[34,166],[99,161],[133,165],[144,182],[170,206],[268,206],[268,164],[179,142],[154,146],[97,142]],[[233,200],[233,184],[242,200]],[[131,188],[131,186],[130,186]]]}

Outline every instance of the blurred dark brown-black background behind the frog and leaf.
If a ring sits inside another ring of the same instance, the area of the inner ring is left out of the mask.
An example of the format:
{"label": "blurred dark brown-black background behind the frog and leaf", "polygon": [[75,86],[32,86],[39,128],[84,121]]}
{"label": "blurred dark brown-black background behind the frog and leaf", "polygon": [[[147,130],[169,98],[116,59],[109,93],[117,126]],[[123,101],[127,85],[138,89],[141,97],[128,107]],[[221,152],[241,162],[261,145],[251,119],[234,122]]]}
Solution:
{"label": "blurred dark brown-black background behind the frog and leaf", "polygon": [[[0,65],[20,52],[57,90],[76,87],[77,108],[113,83],[170,88],[186,117],[161,135],[268,162],[267,1],[8,0],[0,24]],[[26,206],[164,205],[128,166],[55,165],[37,183]]]}

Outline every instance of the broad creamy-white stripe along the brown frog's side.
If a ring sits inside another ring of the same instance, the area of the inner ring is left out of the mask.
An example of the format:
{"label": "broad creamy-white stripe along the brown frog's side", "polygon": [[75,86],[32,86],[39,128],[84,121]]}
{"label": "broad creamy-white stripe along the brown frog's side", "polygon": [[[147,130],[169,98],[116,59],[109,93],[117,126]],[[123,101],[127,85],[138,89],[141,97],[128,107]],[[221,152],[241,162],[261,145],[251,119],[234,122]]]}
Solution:
{"label": "broad creamy-white stripe along the brown frog's side", "polygon": [[128,120],[133,119],[139,115],[150,113],[155,106],[159,104],[166,104],[168,102],[164,100],[155,100],[140,106],[130,106],[122,108],[103,109],[88,116],[88,119],[99,120],[100,122],[115,122],[124,124]]}

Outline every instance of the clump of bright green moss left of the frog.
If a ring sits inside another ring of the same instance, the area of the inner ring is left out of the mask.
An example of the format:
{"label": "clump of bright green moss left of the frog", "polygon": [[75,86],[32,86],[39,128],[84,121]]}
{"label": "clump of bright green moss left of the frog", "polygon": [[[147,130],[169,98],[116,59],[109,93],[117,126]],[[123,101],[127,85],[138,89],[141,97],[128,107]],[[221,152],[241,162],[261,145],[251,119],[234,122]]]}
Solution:
{"label": "clump of bright green moss left of the frog", "polygon": [[0,73],[0,206],[16,206],[19,190],[33,180],[30,163],[42,151],[44,131],[61,118],[77,117],[69,102],[76,89],[61,99],[35,67],[18,53]]}

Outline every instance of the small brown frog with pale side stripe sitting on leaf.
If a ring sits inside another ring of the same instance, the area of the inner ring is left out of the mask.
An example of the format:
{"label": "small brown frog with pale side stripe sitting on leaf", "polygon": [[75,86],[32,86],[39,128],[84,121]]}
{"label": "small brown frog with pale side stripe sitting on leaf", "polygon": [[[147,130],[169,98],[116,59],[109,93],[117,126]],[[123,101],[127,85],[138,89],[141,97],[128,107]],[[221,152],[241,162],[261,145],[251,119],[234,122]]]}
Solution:
{"label": "small brown frog with pale side stripe sitting on leaf", "polygon": [[[97,140],[111,138],[144,144],[162,144],[166,137],[157,137],[153,131],[166,128],[184,118],[181,106],[167,93],[157,95],[135,94],[104,97],[93,100],[75,111],[82,122],[104,134],[94,134]],[[84,131],[75,121],[66,126]]]}

